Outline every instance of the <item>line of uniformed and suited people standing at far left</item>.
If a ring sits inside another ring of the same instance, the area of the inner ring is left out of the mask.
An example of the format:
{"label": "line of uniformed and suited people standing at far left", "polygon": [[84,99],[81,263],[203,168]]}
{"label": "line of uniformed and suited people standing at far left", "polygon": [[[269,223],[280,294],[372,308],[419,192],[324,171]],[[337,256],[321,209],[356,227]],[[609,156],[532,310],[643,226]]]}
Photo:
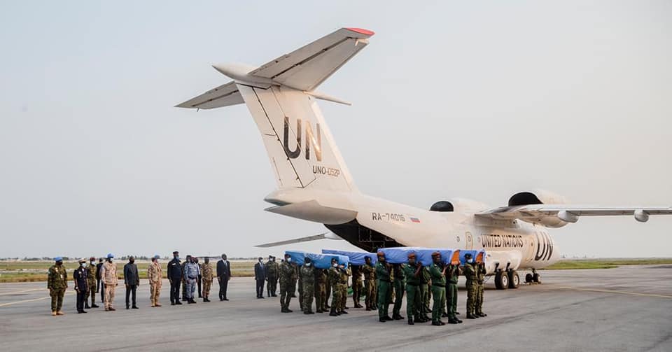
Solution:
{"label": "line of uniformed and suited people standing at far left", "polygon": [[[203,264],[198,263],[198,258],[187,256],[185,262],[181,262],[179,252],[173,253],[174,258],[168,263],[168,280],[171,284],[171,304],[182,304],[179,300],[179,288],[183,286],[183,300],[196,303],[194,300],[196,286],[203,302],[210,302],[209,295],[211,284],[214,281],[214,270],[210,265],[209,258],[205,258]],[[151,265],[147,269],[147,278],[150,285],[150,300],[152,307],[161,307],[159,297],[162,286],[162,267],[159,264],[159,255],[152,258]],[[55,264],[49,268],[47,288],[51,296],[52,316],[64,315],[62,311],[63,297],[68,288],[67,272],[63,265],[63,258],[54,258]],[[77,294],[76,308],[78,313],[86,313],[85,309],[98,308],[96,293],[100,291],[101,300],[104,302],[105,311],[115,311],[114,296],[118,286],[117,265],[114,255],[109,253],[106,258],[100,258],[96,264],[96,258],[91,257],[87,264],[86,258],[78,261],[79,267],[73,272],[73,283]],[[136,291],[140,285],[140,276],[135,258],[129,257],[124,265],[124,285],[126,288],[126,309],[139,309],[136,302]],[[228,281],[231,278],[230,262],[226,255],[217,263],[216,277],[219,282],[220,300],[228,300],[226,291]],[[202,289],[201,289],[202,284]],[[91,305],[89,305],[89,300]],[[132,302],[132,305],[131,305]]]}

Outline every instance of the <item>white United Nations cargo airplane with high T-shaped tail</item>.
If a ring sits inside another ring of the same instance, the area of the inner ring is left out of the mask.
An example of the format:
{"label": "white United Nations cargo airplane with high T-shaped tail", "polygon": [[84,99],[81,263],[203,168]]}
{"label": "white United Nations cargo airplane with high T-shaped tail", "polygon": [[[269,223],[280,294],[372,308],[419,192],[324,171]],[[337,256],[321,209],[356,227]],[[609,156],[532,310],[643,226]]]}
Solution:
{"label": "white United Nations cargo airplane with high T-shaped tail", "polygon": [[316,88],[362,50],[374,32],[342,28],[260,67],[218,64],[232,82],[179,104],[181,108],[221,108],[246,104],[266,147],[277,190],[265,209],[322,223],[331,232],[262,246],[315,239],[344,239],[365,251],[391,246],[486,250],[488,274],[497,288],[517,288],[517,270],[559,259],[548,227],[576,223],[580,216],[629,215],[640,222],[672,214],[672,207],[575,206],[549,192],[520,192],[508,206],[465,199],[418,209],[361,193],[334,142],[316,99],[348,104]]}

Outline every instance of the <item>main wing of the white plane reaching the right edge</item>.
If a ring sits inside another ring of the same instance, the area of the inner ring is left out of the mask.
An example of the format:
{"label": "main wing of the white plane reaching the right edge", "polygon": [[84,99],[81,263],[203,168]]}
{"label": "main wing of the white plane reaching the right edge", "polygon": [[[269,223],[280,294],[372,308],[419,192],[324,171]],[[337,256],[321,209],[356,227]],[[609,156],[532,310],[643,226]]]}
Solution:
{"label": "main wing of the white plane reaching the right edge", "polygon": [[644,223],[650,215],[672,215],[672,207],[664,206],[574,206],[531,204],[523,206],[502,206],[477,213],[480,218],[498,220],[520,219],[528,223],[544,223],[545,219],[556,218],[565,223],[576,223],[580,216],[634,216]]}

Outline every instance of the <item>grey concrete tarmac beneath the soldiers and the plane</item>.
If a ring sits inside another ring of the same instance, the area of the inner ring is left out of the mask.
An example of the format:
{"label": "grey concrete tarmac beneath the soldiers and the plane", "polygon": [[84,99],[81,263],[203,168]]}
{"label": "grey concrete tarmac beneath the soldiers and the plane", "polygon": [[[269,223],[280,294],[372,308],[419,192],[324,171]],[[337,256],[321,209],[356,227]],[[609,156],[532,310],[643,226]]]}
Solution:
{"label": "grey concrete tarmac beneath the soldiers and the plane", "polygon": [[[164,263],[165,264],[165,263]],[[465,290],[458,311],[464,323],[432,326],[406,321],[378,323],[377,313],[304,315],[293,299],[281,314],[279,298],[255,298],[253,278],[233,278],[230,301],[163,307],[149,304],[147,281],[139,287],[140,309],[76,314],[72,285],[65,316],[50,315],[46,283],[0,284],[2,351],[672,351],[672,265],[615,269],[549,270],[542,284],[495,290],[486,283],[486,318],[465,319]],[[524,275],[522,275],[524,276]],[[461,278],[463,279],[463,278]],[[102,304],[101,304],[102,306]],[[390,307],[391,311],[391,307]],[[402,310],[405,314],[405,307]]]}

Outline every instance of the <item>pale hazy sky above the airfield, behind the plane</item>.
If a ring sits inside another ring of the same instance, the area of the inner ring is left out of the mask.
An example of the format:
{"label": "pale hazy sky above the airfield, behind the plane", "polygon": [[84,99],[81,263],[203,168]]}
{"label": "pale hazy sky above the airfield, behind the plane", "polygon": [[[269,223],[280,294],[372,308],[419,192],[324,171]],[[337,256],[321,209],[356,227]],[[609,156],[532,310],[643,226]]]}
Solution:
{"label": "pale hazy sky above the airfield, behind the plane", "polygon": [[[263,3],[263,4],[262,4]],[[376,31],[320,90],[358,188],[421,208],[672,204],[670,1],[5,1],[0,257],[279,254],[247,108],[174,108],[339,27]],[[672,257],[672,216],[581,218],[561,253]],[[291,246],[351,248],[323,240]]]}

